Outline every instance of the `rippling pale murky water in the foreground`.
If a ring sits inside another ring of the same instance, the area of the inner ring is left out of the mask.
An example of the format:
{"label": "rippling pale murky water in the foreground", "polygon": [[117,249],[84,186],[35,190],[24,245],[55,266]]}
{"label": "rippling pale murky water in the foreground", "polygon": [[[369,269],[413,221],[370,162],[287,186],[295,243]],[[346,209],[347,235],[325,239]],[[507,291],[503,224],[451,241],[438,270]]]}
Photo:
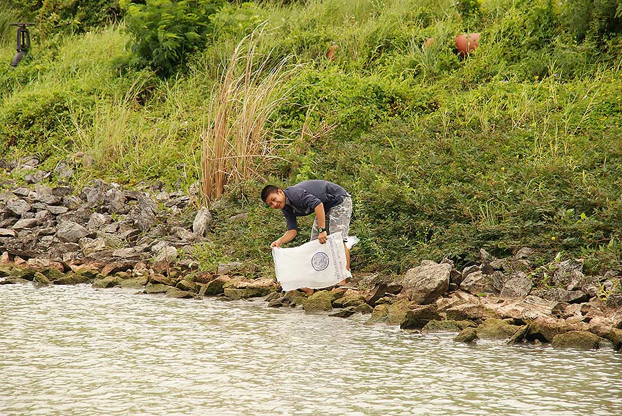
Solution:
{"label": "rippling pale murky water in the foreground", "polygon": [[622,414],[622,354],[464,346],[364,319],[0,285],[0,414]]}

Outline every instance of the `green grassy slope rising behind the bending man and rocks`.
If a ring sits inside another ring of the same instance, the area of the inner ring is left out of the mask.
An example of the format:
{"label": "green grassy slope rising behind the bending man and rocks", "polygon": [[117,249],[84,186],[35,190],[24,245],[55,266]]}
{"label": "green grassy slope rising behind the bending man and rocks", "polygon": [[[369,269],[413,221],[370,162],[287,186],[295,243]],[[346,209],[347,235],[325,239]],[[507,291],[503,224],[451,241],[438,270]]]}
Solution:
{"label": "green grassy slope rising behind the bending man and rocks", "polygon": [[[622,267],[619,38],[576,44],[547,1],[484,1],[480,15],[444,0],[343,3],[260,9],[274,28],[263,48],[305,64],[292,82],[296,104],[281,108],[274,127],[294,142],[265,173],[285,185],[325,178],[353,194],[355,267],[399,272],[443,256],[464,265],[479,247],[503,255],[522,245],[545,261],[563,251],[592,271]],[[482,32],[469,59],[452,50],[464,30]],[[215,68],[241,36],[223,35],[166,81],[114,69],[126,59],[119,28],[47,39],[17,70],[0,69],[2,151],[38,153],[48,168],[93,153],[97,165],[77,185],[104,177],[186,189],[198,178]],[[431,36],[435,44],[421,48]],[[334,62],[323,58],[331,41]],[[334,129],[296,139],[308,106],[310,126]],[[215,243],[198,249],[205,265],[269,265],[266,247],[283,221],[257,201],[261,185],[229,189]],[[246,219],[228,220],[242,212]]]}

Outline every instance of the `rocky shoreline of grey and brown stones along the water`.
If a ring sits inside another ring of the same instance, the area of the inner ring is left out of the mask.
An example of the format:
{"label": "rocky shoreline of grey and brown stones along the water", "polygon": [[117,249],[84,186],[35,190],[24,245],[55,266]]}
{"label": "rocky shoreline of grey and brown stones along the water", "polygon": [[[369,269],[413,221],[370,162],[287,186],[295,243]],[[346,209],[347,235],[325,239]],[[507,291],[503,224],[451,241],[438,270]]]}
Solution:
{"label": "rocky shoreline of grey and brown stones along the water", "polygon": [[212,273],[188,258],[191,247],[209,241],[212,223],[207,208],[196,214],[190,208],[198,189],[187,195],[143,184],[129,191],[95,180],[76,193],[34,185],[0,193],[1,284],[89,283],[182,299],[261,297],[272,308],[368,314],[370,324],[456,332],[463,342],[622,347],[622,272],[585,276],[581,258],[538,265],[528,247],[507,258],[480,249],[480,262],[463,270],[448,259],[424,260],[397,278],[355,272],[348,287],[282,293],[252,263],[221,263]]}

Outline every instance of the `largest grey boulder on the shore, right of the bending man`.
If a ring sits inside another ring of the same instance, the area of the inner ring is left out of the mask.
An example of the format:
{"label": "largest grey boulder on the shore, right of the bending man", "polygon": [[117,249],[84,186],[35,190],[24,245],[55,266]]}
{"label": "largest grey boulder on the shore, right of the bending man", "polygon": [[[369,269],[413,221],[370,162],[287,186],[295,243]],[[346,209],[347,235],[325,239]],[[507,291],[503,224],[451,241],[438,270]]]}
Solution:
{"label": "largest grey boulder on the shore, right of the bending man", "polygon": [[450,274],[449,264],[422,261],[420,266],[408,270],[402,278],[402,296],[421,305],[432,303],[449,289]]}

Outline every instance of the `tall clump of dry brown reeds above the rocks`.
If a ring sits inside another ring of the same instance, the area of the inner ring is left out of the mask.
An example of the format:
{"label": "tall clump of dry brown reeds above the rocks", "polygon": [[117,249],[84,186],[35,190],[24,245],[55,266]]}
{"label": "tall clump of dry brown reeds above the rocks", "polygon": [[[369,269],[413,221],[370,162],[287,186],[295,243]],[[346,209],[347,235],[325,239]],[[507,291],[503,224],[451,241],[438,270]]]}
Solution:
{"label": "tall clump of dry brown reeds above the rocks", "polygon": [[201,132],[206,205],[223,194],[225,185],[261,177],[261,164],[276,158],[276,147],[288,141],[271,130],[270,117],[284,104],[285,84],[298,67],[290,65],[290,56],[271,64],[270,53],[258,52],[264,28],[259,26],[238,43],[212,88]]}

